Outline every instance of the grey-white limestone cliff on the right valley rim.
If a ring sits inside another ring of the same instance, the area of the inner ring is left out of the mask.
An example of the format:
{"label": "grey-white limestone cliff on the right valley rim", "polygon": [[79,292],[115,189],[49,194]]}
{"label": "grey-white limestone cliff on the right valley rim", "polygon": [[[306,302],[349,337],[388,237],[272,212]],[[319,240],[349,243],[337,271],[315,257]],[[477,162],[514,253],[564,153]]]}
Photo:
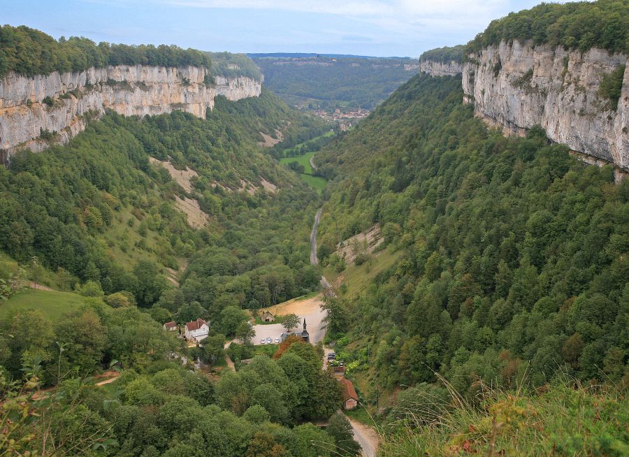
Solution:
{"label": "grey-white limestone cliff on the right valley rim", "polygon": [[[627,56],[600,49],[505,43],[468,56],[461,68],[465,101],[505,133],[522,135],[540,124],[547,136],[570,149],[629,170],[629,65]],[[621,96],[610,106],[600,83],[626,66]],[[456,68],[424,62],[424,71],[444,75]]]}

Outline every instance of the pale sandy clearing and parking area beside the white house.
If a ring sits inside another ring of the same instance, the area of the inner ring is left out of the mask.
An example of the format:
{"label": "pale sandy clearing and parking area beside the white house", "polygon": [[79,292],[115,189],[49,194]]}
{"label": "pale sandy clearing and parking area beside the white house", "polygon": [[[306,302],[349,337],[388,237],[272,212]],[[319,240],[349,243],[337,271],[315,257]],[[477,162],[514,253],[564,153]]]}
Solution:
{"label": "pale sandy clearing and parking area beside the white house", "polygon": [[[326,323],[323,322],[326,314],[324,310],[321,310],[321,303],[320,295],[312,298],[294,298],[275,306],[263,308],[260,312],[268,311],[276,317],[294,313],[301,317],[302,322],[305,318],[308,333],[310,333],[310,342],[316,344],[322,341],[326,335]],[[292,331],[301,330],[301,325],[292,329]],[[254,330],[256,331],[256,336],[253,339],[253,343],[256,345],[260,344],[262,338],[265,340],[266,338],[271,338],[275,342],[275,338],[280,338],[280,335],[286,331],[282,324],[255,325]]]}

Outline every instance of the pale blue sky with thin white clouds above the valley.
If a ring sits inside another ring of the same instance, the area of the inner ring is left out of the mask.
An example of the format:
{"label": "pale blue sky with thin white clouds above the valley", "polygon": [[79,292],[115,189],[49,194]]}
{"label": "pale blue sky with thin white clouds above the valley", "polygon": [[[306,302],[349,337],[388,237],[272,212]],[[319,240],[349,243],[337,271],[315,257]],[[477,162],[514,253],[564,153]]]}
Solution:
{"label": "pale blue sky with thin white clouds above the valley", "polygon": [[0,0],[0,23],[96,43],[418,57],[541,0]]}

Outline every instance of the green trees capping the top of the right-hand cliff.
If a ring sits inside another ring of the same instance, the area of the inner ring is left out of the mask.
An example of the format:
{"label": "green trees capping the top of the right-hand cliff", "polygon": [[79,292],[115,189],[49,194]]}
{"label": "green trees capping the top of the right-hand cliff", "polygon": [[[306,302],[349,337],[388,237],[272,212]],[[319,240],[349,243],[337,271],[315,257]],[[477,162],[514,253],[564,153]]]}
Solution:
{"label": "green trees capping the top of the right-hand cliff", "polygon": [[542,3],[530,10],[509,13],[493,20],[482,34],[470,41],[465,54],[516,39],[581,52],[602,48],[629,54],[629,3],[626,0]]}

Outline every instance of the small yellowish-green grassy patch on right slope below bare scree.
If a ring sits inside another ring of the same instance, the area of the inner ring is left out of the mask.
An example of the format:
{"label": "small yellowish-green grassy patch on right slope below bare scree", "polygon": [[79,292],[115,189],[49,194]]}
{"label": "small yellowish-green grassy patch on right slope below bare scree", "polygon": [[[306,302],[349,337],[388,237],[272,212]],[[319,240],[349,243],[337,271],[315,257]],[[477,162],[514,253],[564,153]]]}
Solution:
{"label": "small yellowish-green grassy patch on right slope below bare scree", "polygon": [[371,280],[378,273],[393,265],[401,254],[400,251],[393,252],[391,248],[386,248],[361,266],[350,265],[340,273],[337,273],[333,267],[327,266],[323,273],[331,284],[336,284],[340,279],[340,283],[347,287],[344,296],[352,298],[366,291]]}

